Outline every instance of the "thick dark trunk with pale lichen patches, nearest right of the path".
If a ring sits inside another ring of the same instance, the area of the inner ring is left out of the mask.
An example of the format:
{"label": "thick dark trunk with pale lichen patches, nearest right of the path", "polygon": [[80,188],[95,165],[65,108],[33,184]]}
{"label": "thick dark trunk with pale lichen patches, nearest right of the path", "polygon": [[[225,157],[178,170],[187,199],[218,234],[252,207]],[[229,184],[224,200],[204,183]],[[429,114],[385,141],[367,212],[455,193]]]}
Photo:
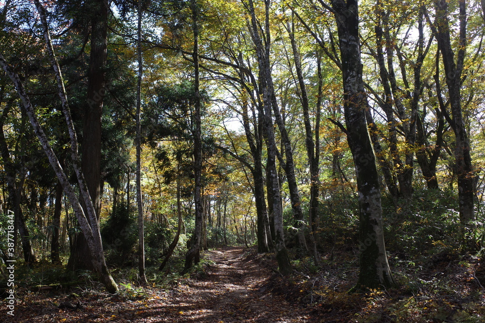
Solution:
{"label": "thick dark trunk with pale lichen patches, nearest right of the path", "polygon": [[379,175],[365,117],[365,110],[370,107],[362,80],[357,5],[357,0],[332,0],[329,8],[339,33],[347,140],[359,193],[359,277],[353,290],[395,284],[384,244]]}

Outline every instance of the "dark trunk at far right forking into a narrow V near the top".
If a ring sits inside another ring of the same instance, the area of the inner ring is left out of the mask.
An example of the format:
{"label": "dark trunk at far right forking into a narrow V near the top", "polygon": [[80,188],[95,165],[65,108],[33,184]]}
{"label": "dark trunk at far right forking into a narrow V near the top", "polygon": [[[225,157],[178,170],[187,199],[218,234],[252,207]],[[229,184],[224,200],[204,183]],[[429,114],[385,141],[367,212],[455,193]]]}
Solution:
{"label": "dark trunk at far right forking into a narrow V near the top", "polygon": [[[467,46],[467,10],[466,1],[459,1],[459,46],[456,62],[451,44],[450,26],[448,22],[448,4],[446,0],[435,0],[436,10],[436,39],[444,66],[445,80],[448,88],[452,120],[450,125],[455,135],[455,172],[458,178],[458,199],[460,207],[460,221],[465,226],[475,220],[474,170],[471,163],[470,143],[467,129],[463,122],[461,108],[461,75]],[[446,111],[442,111],[447,113]]]}

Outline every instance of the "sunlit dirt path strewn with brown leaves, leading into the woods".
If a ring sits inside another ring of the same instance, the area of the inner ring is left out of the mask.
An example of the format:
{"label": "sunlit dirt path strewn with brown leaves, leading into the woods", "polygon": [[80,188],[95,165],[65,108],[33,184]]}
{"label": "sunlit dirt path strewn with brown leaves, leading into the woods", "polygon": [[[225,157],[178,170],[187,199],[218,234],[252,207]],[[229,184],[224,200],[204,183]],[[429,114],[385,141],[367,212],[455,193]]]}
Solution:
{"label": "sunlit dirt path strewn with brown leaves, leading into the woods", "polygon": [[177,317],[136,322],[310,322],[303,308],[266,291],[271,270],[244,257],[241,247],[209,251],[206,257],[215,262],[208,275],[174,290],[162,307],[165,313],[176,309]]}

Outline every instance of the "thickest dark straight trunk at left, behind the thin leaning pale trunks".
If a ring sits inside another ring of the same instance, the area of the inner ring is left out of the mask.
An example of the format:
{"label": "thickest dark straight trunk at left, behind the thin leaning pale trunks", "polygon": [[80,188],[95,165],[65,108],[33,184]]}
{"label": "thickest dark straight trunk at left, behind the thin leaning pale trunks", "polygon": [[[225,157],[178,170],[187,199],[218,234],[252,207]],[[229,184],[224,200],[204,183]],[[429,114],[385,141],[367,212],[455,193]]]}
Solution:
{"label": "thickest dark straight trunk at left, behind the thin leaning pale trunks", "polygon": [[[88,87],[82,128],[81,169],[93,200],[97,220],[101,210],[101,117],[106,92],[105,66],[108,37],[108,0],[92,0],[91,52],[89,56]],[[86,212],[86,206],[81,199]],[[89,220],[89,219],[88,219]],[[94,269],[88,246],[82,233],[74,236],[67,264],[71,269]]]}

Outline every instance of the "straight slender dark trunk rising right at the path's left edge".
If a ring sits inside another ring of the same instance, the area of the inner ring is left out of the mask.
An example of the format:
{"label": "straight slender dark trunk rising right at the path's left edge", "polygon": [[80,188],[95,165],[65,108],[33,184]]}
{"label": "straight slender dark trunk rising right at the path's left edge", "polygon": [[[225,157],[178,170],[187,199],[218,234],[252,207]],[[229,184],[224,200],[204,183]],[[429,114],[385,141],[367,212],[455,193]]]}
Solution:
{"label": "straight slender dark trunk rising right at the path's left edge", "polygon": [[192,29],[194,31],[194,203],[195,203],[195,228],[192,236],[192,246],[185,254],[185,265],[183,272],[187,272],[192,267],[192,262],[198,263],[200,260],[200,242],[202,235],[203,207],[202,207],[202,134],[201,134],[201,116],[200,116],[200,93],[199,93],[199,26],[198,26],[198,8],[196,0],[191,0],[192,9]]}

